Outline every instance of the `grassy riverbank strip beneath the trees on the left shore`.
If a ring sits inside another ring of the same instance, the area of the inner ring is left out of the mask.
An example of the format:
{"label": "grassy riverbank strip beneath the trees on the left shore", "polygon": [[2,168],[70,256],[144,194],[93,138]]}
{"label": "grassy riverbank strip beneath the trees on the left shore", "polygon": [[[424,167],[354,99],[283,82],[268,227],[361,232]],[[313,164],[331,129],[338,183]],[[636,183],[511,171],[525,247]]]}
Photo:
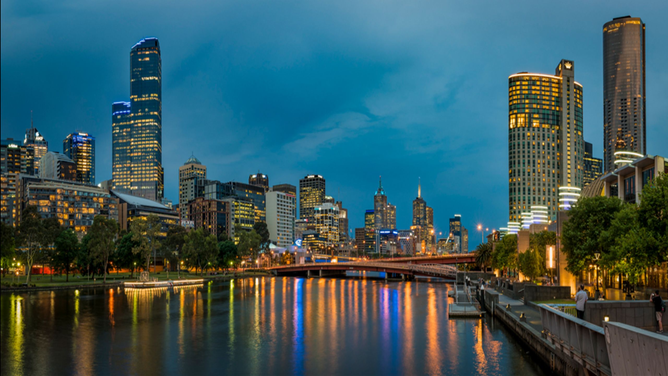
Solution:
{"label": "grassy riverbank strip beneath the trees on the left shore", "polygon": [[[166,273],[157,273],[151,274],[152,277],[158,278],[158,280],[175,280],[178,279],[178,275],[174,272],[170,273],[168,278]],[[188,274],[181,273],[181,278],[204,278],[204,281],[209,280],[228,280],[232,278],[247,278],[247,277],[258,277],[258,276],[271,276],[271,274],[262,271],[240,271],[240,272],[230,272],[227,274],[205,274],[200,276],[199,274]],[[67,290],[67,289],[81,289],[81,288],[115,288],[121,286],[123,282],[136,280],[138,278],[137,274],[131,276],[130,273],[119,273],[112,274],[107,276],[107,282],[104,283],[102,278],[90,278],[85,277],[75,278],[70,276],[69,281],[65,281],[64,276],[54,276],[53,281],[51,281],[50,276],[33,276],[33,280],[29,284],[34,286],[23,286],[25,284],[25,276],[21,276],[23,279],[20,282],[17,282],[16,278],[12,281],[11,278],[1,278],[0,279],[0,293],[2,292],[24,292],[24,291],[48,291],[48,290]],[[17,284],[19,286],[7,286],[7,284]]]}

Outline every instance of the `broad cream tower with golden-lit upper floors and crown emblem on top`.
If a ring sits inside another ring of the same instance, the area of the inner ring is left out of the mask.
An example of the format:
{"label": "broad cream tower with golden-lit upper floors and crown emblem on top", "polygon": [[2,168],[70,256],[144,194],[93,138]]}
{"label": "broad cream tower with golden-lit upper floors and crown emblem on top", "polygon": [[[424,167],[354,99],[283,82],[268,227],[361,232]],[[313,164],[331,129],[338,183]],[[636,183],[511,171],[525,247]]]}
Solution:
{"label": "broad cream tower with golden-lit upper floors and crown emblem on top", "polygon": [[548,219],[576,199],[584,183],[582,85],[574,64],[561,60],[554,76],[508,77],[508,208],[519,222],[531,207],[547,207]]}

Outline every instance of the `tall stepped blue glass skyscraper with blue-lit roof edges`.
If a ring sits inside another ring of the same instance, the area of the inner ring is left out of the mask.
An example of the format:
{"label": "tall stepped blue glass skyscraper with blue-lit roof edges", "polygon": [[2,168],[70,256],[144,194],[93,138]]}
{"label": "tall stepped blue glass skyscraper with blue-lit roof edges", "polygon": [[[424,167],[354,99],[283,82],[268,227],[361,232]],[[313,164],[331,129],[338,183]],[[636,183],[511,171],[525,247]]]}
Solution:
{"label": "tall stepped blue glass skyscraper with blue-lit roof edges", "polygon": [[157,38],[133,45],[130,102],[112,104],[112,186],[154,201],[164,189],[161,64]]}

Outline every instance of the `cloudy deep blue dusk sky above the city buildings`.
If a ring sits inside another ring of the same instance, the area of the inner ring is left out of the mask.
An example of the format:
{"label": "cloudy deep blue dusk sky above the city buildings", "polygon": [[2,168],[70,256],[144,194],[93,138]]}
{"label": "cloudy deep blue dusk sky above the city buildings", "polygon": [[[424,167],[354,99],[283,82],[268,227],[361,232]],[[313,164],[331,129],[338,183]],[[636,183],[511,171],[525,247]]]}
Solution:
{"label": "cloudy deep blue dusk sky above the city buildings", "polygon": [[498,228],[508,75],[574,60],[585,140],[602,157],[602,27],[623,15],[647,24],[647,148],[668,155],[665,1],[3,0],[0,10],[1,137],[23,138],[31,110],[51,150],[89,132],[98,181],[111,177],[111,104],[130,95],[130,48],[160,39],[174,203],[194,153],[221,181],[323,175],[351,228],[373,208],[379,175],[398,227],[410,225],[421,177],[437,231],[455,213],[470,229]]}

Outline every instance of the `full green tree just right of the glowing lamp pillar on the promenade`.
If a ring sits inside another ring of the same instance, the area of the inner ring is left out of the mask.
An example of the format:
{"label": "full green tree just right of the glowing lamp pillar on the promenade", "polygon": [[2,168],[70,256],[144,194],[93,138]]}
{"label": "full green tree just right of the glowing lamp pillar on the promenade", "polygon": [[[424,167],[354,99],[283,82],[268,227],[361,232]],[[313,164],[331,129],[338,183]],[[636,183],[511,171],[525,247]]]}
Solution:
{"label": "full green tree just right of the glowing lamp pillar on the promenade", "polygon": [[603,231],[610,228],[615,215],[622,208],[617,197],[580,197],[568,213],[562,230],[562,251],[567,256],[566,270],[580,274],[589,264],[595,264],[596,253],[603,256],[601,265],[613,267],[613,258],[606,256],[609,249],[601,242]]}

